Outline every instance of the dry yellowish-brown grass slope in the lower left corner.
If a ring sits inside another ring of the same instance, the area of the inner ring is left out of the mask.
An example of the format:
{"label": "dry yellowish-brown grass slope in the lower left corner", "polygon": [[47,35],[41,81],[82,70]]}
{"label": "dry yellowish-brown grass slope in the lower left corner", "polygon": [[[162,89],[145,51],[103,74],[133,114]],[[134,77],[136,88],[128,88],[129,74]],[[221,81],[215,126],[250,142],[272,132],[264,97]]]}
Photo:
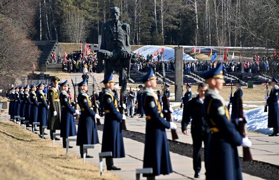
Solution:
{"label": "dry yellowish-brown grass slope in the lower left corner", "polygon": [[[1,118],[2,119],[2,118]],[[120,179],[9,121],[0,121],[1,179]]]}

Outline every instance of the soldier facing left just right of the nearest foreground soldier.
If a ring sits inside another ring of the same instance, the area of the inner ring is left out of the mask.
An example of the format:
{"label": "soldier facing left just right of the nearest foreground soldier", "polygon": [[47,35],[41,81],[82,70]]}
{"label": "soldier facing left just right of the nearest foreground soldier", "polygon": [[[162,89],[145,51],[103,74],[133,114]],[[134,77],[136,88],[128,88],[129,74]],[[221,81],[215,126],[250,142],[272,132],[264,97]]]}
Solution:
{"label": "soldier facing left just right of the nearest foreground soldier", "polygon": [[242,91],[242,88],[241,86],[245,86],[244,83],[242,83],[239,79],[237,81],[237,83],[235,84],[235,87],[237,88],[235,90],[235,92],[233,93],[233,96],[230,97],[230,102],[232,104],[232,107],[231,107],[231,119],[235,119],[237,118],[237,112],[239,110],[239,107],[237,105],[237,102],[238,102],[238,99],[239,98],[242,98],[242,95],[243,95],[243,91]]}

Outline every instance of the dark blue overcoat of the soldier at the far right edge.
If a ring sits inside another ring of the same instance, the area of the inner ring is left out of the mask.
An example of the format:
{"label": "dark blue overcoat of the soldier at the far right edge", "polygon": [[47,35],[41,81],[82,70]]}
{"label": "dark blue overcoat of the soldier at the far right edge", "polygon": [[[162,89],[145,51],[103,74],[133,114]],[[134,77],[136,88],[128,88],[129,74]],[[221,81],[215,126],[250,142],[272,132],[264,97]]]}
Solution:
{"label": "dark blue overcoat of the soldier at the far right edge", "polygon": [[278,109],[279,89],[275,86],[271,89],[269,97],[267,98],[268,104],[268,124],[269,128],[279,128],[279,109]]}

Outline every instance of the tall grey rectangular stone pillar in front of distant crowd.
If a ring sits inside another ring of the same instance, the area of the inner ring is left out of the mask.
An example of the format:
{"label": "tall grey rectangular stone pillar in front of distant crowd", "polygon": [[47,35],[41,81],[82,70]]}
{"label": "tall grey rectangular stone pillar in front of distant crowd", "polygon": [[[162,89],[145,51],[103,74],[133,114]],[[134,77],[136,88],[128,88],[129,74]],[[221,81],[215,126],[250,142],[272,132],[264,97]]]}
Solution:
{"label": "tall grey rectangular stone pillar in front of distant crowd", "polygon": [[183,47],[175,47],[175,100],[181,101],[183,91]]}

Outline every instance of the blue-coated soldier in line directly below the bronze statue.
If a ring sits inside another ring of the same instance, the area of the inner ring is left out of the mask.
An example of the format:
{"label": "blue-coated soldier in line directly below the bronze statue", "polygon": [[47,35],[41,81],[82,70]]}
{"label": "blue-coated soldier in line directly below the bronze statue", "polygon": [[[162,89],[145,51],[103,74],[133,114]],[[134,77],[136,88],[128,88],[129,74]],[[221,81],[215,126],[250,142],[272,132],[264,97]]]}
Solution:
{"label": "blue-coated soldier in line directly below the bronze statue", "polygon": [[107,170],[121,170],[114,166],[113,158],[125,157],[121,121],[125,120],[126,116],[118,110],[117,98],[113,92],[115,85],[113,74],[106,77],[102,83],[106,87],[103,91],[103,107],[106,115],[104,115],[101,152],[111,151],[113,154],[113,157],[106,158]]}

